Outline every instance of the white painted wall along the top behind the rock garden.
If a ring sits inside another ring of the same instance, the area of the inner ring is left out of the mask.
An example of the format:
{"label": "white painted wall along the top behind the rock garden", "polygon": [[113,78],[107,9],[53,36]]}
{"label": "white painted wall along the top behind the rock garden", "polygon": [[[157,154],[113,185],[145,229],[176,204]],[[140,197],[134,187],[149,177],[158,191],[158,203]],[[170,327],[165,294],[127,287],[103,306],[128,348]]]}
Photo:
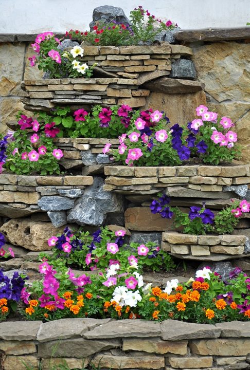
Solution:
{"label": "white painted wall along the top behind the rock garden", "polygon": [[250,22],[250,0],[0,0],[0,33],[82,31],[101,5],[121,7],[127,16],[142,5],[182,29],[244,27]]}

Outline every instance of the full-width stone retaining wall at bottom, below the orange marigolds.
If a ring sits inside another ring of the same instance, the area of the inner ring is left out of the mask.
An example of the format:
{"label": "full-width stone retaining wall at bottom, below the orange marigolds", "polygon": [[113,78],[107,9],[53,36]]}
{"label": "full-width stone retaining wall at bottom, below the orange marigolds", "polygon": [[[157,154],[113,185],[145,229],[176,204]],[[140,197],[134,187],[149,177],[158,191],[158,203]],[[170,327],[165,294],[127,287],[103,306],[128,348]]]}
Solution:
{"label": "full-width stone retaining wall at bottom, below the orange marigolds", "polygon": [[62,319],[0,323],[1,370],[250,368],[250,323],[216,325],[166,320]]}

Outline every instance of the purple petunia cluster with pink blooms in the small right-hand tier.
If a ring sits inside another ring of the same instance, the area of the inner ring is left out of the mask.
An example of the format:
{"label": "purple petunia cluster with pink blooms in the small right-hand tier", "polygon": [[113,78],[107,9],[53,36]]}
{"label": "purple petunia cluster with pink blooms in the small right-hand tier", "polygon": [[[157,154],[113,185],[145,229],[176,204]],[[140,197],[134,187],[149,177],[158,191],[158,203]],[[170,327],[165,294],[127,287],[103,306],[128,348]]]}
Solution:
{"label": "purple petunia cluster with pink blooms in the small right-hand tier", "polygon": [[170,197],[162,194],[159,195],[158,200],[152,201],[150,209],[152,213],[159,213],[164,218],[174,216],[175,227],[182,226],[185,234],[205,235],[207,232],[225,234],[233,232],[242,212],[250,210],[250,203],[246,200],[235,201],[232,199],[232,203],[232,206],[226,207],[217,215],[205,208],[205,202],[203,207],[192,206],[189,213],[186,213],[178,207],[170,207]]}

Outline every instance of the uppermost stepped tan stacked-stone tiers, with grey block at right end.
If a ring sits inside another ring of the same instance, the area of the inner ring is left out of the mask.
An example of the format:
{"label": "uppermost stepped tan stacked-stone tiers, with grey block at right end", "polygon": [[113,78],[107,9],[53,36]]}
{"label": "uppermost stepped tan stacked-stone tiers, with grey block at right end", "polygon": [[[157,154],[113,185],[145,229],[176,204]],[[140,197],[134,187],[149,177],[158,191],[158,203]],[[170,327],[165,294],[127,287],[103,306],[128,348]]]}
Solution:
{"label": "uppermost stepped tan stacked-stone tiers, with grey block at right end", "polygon": [[[170,77],[166,80],[194,80],[196,77],[193,62],[185,59],[192,55],[192,50],[183,45],[163,42],[160,46],[83,48],[81,60],[88,65],[96,65],[94,78],[25,80],[22,83],[25,109],[49,109],[58,104],[70,105],[72,109],[91,104],[141,107],[146,104],[146,97],[150,95],[149,89],[140,87],[142,84],[166,76]],[[172,85],[164,80],[161,84],[164,83],[165,89],[166,84],[169,90],[176,89],[175,93],[202,90],[200,83],[179,81]]]}

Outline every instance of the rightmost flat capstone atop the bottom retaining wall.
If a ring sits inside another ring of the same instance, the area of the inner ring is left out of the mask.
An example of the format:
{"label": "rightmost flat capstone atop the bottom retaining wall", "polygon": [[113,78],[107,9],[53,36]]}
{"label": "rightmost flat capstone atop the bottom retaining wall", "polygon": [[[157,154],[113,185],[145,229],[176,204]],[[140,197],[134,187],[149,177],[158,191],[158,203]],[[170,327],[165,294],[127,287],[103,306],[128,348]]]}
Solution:
{"label": "rightmost flat capstone atop the bottom retaining wall", "polygon": [[224,323],[216,324],[215,326],[221,329],[221,337],[250,338],[250,322],[249,321],[248,322],[242,322],[242,321],[224,322]]}

